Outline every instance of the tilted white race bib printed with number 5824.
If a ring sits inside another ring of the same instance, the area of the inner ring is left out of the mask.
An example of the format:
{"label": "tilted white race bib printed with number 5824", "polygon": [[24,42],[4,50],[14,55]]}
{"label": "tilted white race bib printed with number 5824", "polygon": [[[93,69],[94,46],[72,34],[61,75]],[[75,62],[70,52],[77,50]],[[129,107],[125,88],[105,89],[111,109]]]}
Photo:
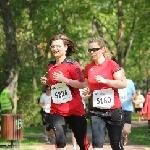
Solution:
{"label": "tilted white race bib printed with number 5824", "polygon": [[61,104],[72,100],[69,87],[65,83],[57,83],[51,86],[53,103]]}

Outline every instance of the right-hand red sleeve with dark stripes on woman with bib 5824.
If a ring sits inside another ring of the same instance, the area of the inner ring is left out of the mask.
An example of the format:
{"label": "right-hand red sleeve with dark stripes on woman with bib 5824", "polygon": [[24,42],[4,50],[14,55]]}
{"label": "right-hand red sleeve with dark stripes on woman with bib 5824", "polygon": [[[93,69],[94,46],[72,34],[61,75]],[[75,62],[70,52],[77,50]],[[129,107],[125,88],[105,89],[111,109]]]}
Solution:
{"label": "right-hand red sleeve with dark stripes on woman with bib 5824", "polygon": [[84,75],[82,73],[81,66],[79,65],[78,62],[73,63],[70,74],[73,80],[84,82]]}

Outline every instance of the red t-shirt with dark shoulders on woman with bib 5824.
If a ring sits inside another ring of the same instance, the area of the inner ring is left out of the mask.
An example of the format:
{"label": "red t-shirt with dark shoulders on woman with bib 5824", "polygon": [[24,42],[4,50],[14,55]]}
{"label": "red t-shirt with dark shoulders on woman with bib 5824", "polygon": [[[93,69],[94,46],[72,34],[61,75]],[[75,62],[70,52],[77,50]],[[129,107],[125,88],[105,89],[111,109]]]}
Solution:
{"label": "red t-shirt with dark shoulders on woman with bib 5824", "polygon": [[[57,81],[53,80],[53,72],[61,71],[65,77],[68,79],[78,80],[84,82],[84,76],[80,65],[66,58],[61,64],[55,64],[55,62],[50,62],[48,65],[48,79],[50,86],[57,84]],[[82,103],[82,98],[78,88],[73,88],[68,86],[71,94],[72,100],[66,103],[55,104],[53,99],[51,101],[51,111],[50,114],[60,114],[62,116],[81,116],[85,114],[84,106]]]}

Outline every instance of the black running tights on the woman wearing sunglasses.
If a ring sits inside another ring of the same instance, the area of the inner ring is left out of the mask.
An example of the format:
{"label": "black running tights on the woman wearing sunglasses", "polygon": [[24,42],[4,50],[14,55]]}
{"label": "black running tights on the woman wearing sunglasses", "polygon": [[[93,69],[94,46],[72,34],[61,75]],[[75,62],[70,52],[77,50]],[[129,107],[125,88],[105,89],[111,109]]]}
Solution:
{"label": "black running tights on the woman wearing sunglasses", "polygon": [[123,150],[120,143],[123,118],[124,115],[121,108],[114,110],[91,109],[90,123],[92,128],[93,148],[103,148],[105,131],[107,129],[112,149]]}

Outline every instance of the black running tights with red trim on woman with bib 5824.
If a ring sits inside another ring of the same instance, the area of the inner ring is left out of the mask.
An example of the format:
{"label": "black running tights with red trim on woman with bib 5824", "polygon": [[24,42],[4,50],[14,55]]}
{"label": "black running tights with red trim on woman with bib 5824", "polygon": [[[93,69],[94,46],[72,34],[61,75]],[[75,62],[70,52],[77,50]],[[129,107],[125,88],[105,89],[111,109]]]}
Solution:
{"label": "black running tights with red trim on woman with bib 5824", "polygon": [[59,114],[50,114],[51,125],[56,135],[57,148],[66,146],[66,127],[70,125],[80,150],[87,150],[89,142],[87,139],[87,120],[82,116],[60,116]]}

